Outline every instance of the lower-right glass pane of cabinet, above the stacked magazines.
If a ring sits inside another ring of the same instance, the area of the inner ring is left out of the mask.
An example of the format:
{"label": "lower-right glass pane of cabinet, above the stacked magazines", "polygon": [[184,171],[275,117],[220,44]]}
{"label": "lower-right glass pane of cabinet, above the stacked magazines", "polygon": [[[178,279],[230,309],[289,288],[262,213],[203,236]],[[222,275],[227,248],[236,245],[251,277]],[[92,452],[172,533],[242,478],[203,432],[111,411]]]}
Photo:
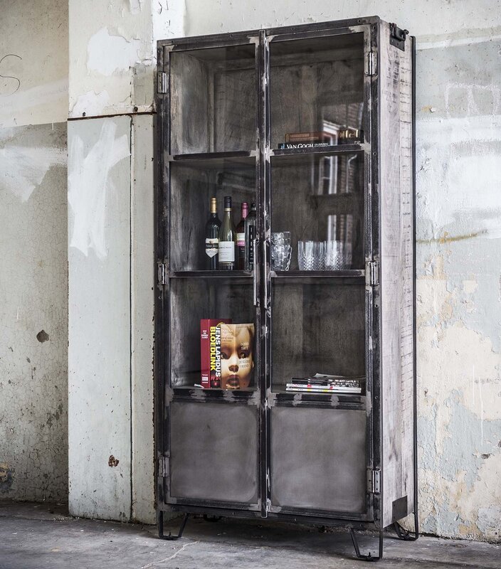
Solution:
{"label": "lower-right glass pane of cabinet, above the stacked magazines", "polygon": [[285,390],[292,378],[317,373],[364,376],[364,285],[272,282],[273,390]]}

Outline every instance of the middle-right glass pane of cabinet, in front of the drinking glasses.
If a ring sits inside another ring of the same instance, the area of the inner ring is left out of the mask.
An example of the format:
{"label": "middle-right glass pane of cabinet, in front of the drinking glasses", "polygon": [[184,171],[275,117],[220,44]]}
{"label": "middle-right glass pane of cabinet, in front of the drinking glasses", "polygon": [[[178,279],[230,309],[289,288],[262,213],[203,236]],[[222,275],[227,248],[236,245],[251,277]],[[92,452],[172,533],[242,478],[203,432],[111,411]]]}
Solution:
{"label": "middle-right glass pane of cabinet, in front of the drinking glasses", "polygon": [[362,153],[274,156],[271,186],[271,231],[290,232],[290,270],[300,268],[300,241],[342,243],[339,263],[320,270],[364,268]]}

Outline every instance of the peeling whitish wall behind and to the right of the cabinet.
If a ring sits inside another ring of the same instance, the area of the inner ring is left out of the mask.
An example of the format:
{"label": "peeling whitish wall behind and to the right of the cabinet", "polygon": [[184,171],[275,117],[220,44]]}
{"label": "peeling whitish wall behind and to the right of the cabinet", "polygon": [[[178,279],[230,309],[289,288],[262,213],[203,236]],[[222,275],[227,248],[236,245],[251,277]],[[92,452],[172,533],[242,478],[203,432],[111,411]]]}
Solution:
{"label": "peeling whitish wall behind and to the right of the cabinet", "polygon": [[501,541],[501,3],[186,0],[186,35],[377,14],[417,38],[419,514]]}

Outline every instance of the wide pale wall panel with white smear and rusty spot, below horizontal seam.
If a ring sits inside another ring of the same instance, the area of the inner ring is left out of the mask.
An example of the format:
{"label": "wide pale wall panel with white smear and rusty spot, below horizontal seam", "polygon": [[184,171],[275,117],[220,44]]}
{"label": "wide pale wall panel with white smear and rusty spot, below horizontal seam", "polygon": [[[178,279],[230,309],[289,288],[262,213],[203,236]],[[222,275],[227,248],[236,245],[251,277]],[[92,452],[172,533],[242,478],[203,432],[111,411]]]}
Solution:
{"label": "wide pale wall panel with white smear and rusty spot, below horizontal seam", "polygon": [[130,117],[68,124],[70,513],[130,519]]}

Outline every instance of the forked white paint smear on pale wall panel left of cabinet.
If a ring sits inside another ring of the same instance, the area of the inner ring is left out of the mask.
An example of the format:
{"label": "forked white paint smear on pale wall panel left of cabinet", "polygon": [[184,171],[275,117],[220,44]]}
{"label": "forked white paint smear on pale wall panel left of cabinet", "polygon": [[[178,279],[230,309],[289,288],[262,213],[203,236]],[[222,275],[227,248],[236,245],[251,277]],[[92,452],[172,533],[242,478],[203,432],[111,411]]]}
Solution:
{"label": "forked white paint smear on pale wall panel left of cabinet", "polygon": [[116,130],[115,122],[106,119],[99,139],[87,156],[84,156],[83,140],[77,134],[70,139],[69,146],[68,204],[73,214],[70,247],[77,248],[85,256],[93,249],[99,259],[107,255],[106,198],[113,189],[110,169],[130,156],[127,137],[115,139]]}

